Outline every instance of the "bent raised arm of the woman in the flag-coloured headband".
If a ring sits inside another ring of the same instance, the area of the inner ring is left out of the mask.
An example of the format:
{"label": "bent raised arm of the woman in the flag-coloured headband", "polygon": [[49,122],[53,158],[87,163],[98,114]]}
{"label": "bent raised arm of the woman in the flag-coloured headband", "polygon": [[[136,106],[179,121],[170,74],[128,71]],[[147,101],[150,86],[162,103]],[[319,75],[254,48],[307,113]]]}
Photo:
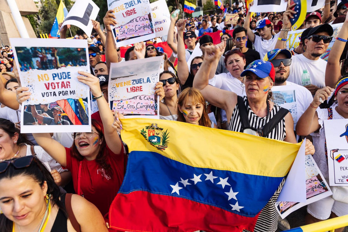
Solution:
{"label": "bent raised arm of the woman in the flag-coloured headband", "polygon": [[321,98],[323,101],[327,100],[333,90],[333,88],[328,86],[317,90],[313,97],[313,102],[310,103],[307,110],[304,111],[296,124],[296,133],[298,135],[306,136],[320,129],[318,113],[316,111],[318,106],[321,104],[319,99]]}

